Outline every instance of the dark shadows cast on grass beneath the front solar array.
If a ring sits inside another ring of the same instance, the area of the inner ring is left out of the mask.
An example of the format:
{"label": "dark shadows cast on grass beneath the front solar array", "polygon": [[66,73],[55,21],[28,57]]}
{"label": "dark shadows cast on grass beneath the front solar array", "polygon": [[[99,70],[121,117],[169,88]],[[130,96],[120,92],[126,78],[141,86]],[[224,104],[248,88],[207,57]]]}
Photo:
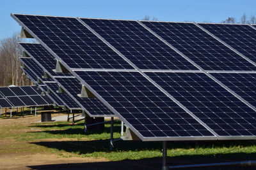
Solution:
{"label": "dark shadows cast on grass beneath the front solar array", "polygon": [[[175,148],[196,148],[197,146],[211,148],[213,142],[193,143],[193,142],[168,142],[169,149]],[[240,141],[241,146],[250,146],[250,142]],[[75,152],[80,155],[93,152],[109,153],[109,140],[93,140],[93,141],[51,141],[51,142],[35,142],[33,144],[46,146],[47,148],[55,148],[57,150],[65,150],[65,152]],[[111,154],[115,152],[131,152],[131,151],[148,151],[159,150],[161,152],[161,142],[142,142],[142,141],[118,141]],[[215,142],[214,146],[234,146],[237,141]],[[125,153],[124,153],[125,154]],[[132,159],[132,156],[131,156]],[[213,162],[235,162],[242,160],[256,160],[256,153],[217,153],[209,155],[179,155],[168,157],[168,165],[182,164],[205,164]],[[153,157],[150,159],[140,160],[120,160],[111,162],[89,162],[81,164],[53,164],[41,166],[29,166],[32,169],[161,169],[161,157]],[[202,167],[196,169],[212,169],[213,167]],[[255,166],[221,166],[214,169],[255,169]]]}

